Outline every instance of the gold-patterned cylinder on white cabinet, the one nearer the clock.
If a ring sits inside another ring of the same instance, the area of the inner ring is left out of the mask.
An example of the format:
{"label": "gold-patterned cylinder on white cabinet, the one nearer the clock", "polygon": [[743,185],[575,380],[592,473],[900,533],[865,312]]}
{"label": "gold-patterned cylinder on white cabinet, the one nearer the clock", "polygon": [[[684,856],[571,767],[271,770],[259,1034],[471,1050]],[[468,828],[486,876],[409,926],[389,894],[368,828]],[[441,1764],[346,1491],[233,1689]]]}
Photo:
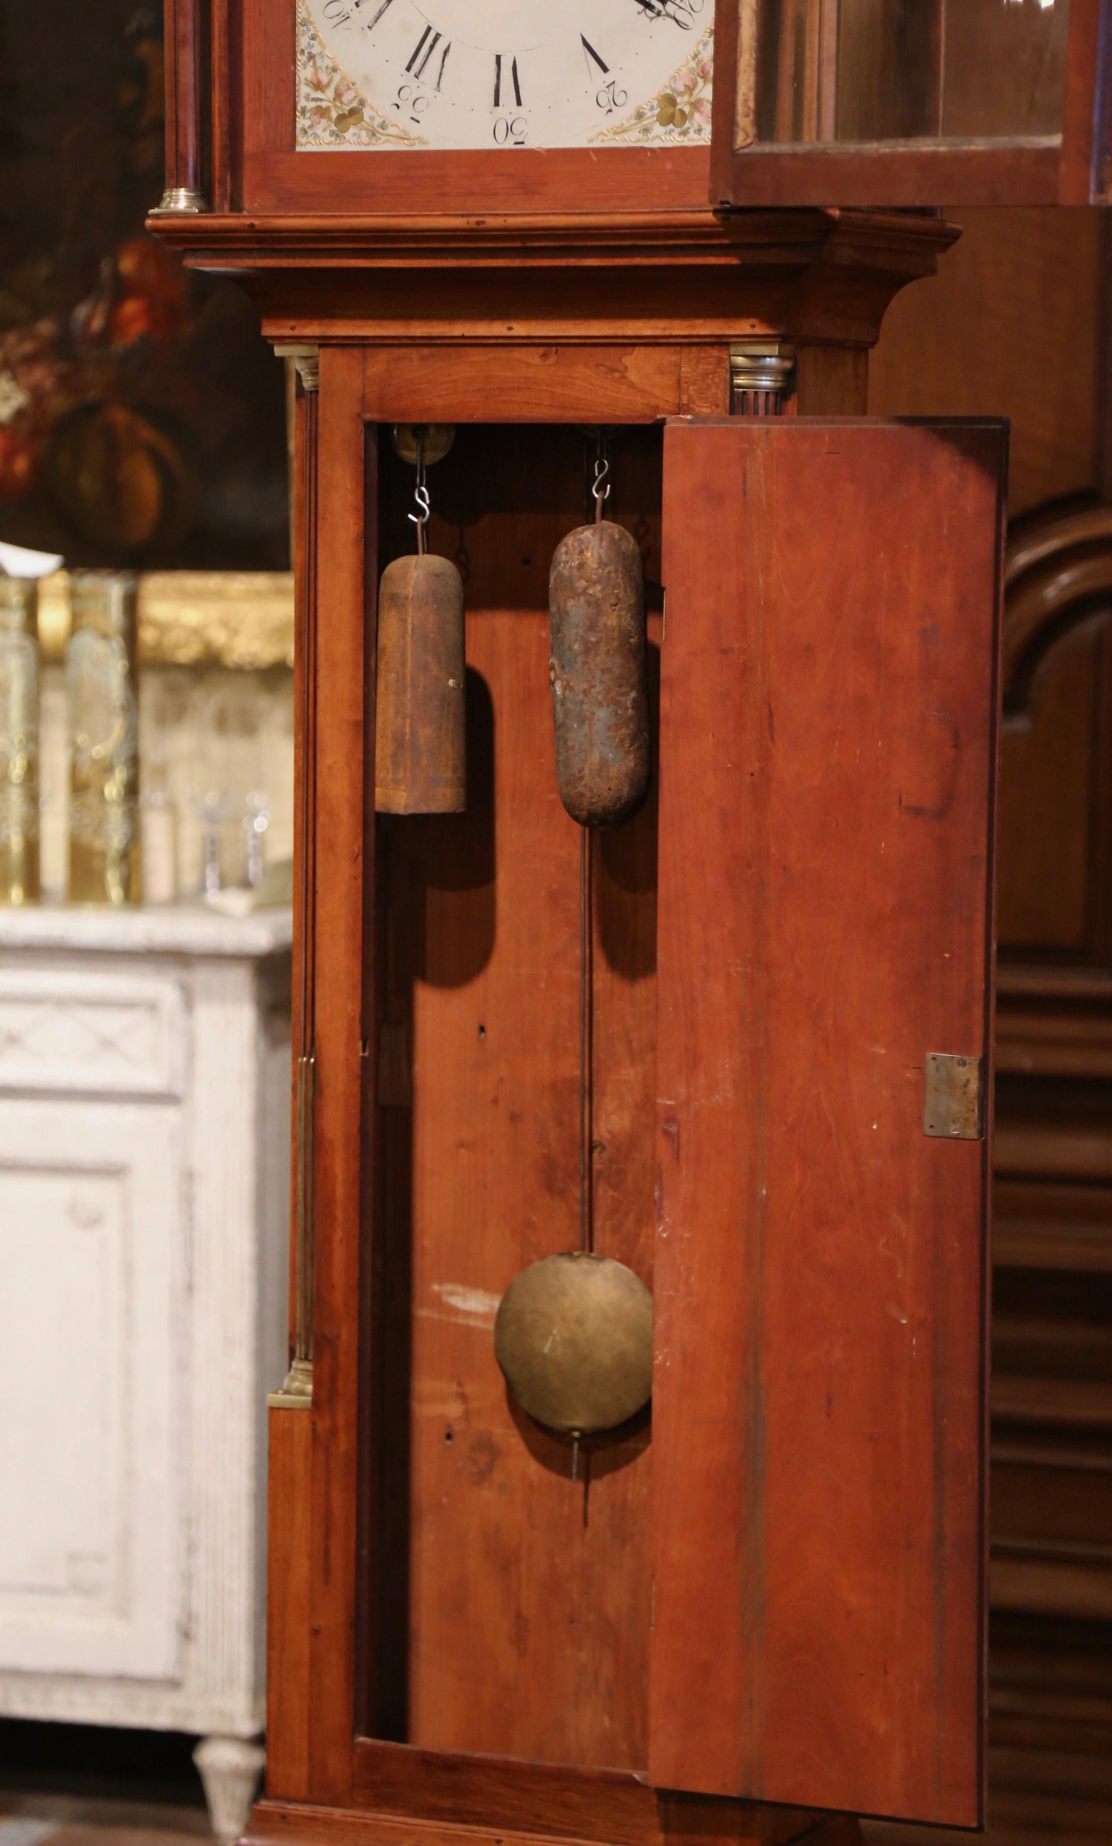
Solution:
{"label": "gold-patterned cylinder on white cabinet, the one nearer the clock", "polygon": [[70,903],[79,905],[135,905],[142,893],[136,589],[129,570],[70,576]]}

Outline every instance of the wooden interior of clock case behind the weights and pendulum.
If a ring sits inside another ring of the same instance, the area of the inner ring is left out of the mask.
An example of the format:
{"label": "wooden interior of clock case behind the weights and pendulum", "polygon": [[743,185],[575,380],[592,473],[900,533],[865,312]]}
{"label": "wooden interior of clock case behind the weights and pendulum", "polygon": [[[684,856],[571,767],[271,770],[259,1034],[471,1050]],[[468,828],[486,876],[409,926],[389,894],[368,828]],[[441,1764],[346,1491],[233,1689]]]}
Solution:
{"label": "wooden interior of clock case behind the weights and pendulum", "polygon": [[[385,565],[413,550],[413,469],[378,450]],[[428,471],[430,550],[465,580],[467,810],[378,816],[360,1689],[369,1737],[633,1770],[647,1761],[649,1412],[575,1464],[513,1403],[492,1344],[513,1277],[579,1242],[581,829],[555,781],[548,572],[594,517],[594,452],[574,425],[472,425]],[[657,761],[660,428],[614,430],[609,460],[607,517],[645,561]],[[592,1248],[651,1287],[655,775],[633,820],[588,834],[588,893]]]}

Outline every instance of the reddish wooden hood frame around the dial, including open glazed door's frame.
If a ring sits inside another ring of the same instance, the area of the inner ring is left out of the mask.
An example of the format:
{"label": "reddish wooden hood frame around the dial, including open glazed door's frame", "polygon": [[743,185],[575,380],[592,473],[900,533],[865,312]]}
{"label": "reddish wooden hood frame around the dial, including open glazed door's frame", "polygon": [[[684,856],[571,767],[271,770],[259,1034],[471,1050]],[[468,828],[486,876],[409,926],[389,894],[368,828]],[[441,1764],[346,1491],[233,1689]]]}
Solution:
{"label": "reddish wooden hood frame around the dial, including open glazed door's frame", "polygon": [[[922,146],[734,146],[738,33],[719,0],[710,146],[507,151],[297,150],[297,0],[166,0],[168,212],[260,220],[551,216],[660,220],[752,207],[1082,205],[1108,194],[1108,0],[1071,0],[1062,135]],[[430,214],[430,201],[437,212]],[[647,203],[651,201],[651,203]],[[275,227],[277,229],[277,227]],[[295,225],[286,227],[295,234]],[[308,227],[302,227],[308,229]],[[474,223],[472,229],[483,229]]]}

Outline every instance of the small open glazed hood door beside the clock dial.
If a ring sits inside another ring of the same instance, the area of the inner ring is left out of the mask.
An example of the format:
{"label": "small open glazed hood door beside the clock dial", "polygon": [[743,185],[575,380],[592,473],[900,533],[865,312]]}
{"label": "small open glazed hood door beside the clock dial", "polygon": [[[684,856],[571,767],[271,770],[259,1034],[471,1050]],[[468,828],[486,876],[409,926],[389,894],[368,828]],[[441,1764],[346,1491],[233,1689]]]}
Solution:
{"label": "small open glazed hood door beside the clock dial", "polygon": [[716,205],[1099,205],[1110,0],[719,0]]}

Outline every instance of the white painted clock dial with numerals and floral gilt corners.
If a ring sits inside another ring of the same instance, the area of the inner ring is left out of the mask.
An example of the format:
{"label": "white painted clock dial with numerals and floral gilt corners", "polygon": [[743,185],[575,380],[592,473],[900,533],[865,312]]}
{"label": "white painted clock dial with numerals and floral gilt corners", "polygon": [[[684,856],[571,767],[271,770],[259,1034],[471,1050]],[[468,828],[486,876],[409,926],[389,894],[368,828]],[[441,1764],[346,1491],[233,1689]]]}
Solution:
{"label": "white painted clock dial with numerals and floral gilt corners", "polygon": [[299,0],[297,146],[710,138],[714,0]]}

